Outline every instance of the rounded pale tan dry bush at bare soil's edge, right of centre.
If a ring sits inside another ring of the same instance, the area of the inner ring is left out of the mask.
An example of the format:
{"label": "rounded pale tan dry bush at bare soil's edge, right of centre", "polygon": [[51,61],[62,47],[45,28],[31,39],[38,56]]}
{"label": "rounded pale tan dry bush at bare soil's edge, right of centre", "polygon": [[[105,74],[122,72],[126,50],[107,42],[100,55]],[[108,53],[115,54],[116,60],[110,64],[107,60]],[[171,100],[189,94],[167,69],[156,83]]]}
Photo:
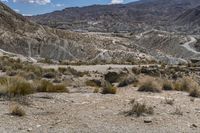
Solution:
{"label": "rounded pale tan dry bush at bare soil's edge, right of centre", "polygon": [[143,81],[140,82],[141,86],[139,87],[138,91],[161,92],[158,82],[151,77],[144,78]]}

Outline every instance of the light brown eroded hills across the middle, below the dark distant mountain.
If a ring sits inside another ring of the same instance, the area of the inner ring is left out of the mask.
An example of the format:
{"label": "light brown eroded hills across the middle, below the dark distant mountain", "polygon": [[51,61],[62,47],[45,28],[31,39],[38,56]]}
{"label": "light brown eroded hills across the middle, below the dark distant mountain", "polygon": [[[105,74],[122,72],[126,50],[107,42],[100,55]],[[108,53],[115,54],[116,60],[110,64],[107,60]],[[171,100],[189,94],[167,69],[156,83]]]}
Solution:
{"label": "light brown eroded hills across the middle, below the dark distant mountain", "polygon": [[34,60],[43,58],[89,64],[161,61],[179,64],[186,63],[191,58],[198,58],[199,55],[182,47],[184,43],[194,44],[190,44],[189,36],[178,33],[159,30],[140,33],[63,31],[30,22],[3,3],[0,18],[0,48]]}

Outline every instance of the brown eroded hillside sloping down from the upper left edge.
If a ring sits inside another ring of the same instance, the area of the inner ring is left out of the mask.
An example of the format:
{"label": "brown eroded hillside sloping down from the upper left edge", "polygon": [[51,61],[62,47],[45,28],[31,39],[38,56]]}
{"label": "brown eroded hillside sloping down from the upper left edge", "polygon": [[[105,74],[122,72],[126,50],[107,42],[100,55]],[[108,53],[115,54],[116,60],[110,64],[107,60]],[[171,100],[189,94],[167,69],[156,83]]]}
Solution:
{"label": "brown eroded hillside sloping down from the upper left edge", "polygon": [[[142,61],[139,50],[127,47],[130,44],[128,39],[41,26],[28,21],[3,3],[0,3],[0,27],[0,48],[25,56],[87,62]],[[146,60],[146,57],[143,53],[142,58]]]}

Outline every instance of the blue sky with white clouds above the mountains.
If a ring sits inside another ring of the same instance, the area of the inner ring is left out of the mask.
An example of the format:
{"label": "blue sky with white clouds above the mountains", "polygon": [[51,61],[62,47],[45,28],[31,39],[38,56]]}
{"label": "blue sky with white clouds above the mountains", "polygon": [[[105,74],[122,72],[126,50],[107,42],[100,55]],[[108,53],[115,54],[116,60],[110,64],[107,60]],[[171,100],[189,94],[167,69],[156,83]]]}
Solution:
{"label": "blue sky with white clouds above the mountains", "polygon": [[0,0],[16,12],[25,15],[37,15],[61,10],[67,7],[82,7],[94,4],[120,4],[137,0]]}

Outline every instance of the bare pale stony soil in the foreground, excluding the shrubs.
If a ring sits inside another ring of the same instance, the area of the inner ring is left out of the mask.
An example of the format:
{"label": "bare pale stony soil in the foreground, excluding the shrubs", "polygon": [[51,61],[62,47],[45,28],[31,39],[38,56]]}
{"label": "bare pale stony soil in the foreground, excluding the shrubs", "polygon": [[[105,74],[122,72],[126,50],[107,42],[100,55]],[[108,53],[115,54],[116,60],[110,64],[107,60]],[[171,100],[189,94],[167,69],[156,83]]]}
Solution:
{"label": "bare pale stony soil in the foreground, excluding the shrubs", "polygon": [[[80,88],[81,89],[81,88]],[[137,92],[132,86],[118,89],[116,95],[94,93],[30,95],[30,105],[23,106],[24,117],[9,115],[11,102],[0,101],[0,131],[32,133],[199,133],[200,99],[194,102],[184,92],[160,94]],[[165,98],[175,99],[174,105]],[[130,117],[130,100],[136,99],[154,107],[154,115]],[[180,108],[183,115],[174,115]],[[144,123],[145,119],[152,122]],[[195,124],[197,127],[192,126]]]}

